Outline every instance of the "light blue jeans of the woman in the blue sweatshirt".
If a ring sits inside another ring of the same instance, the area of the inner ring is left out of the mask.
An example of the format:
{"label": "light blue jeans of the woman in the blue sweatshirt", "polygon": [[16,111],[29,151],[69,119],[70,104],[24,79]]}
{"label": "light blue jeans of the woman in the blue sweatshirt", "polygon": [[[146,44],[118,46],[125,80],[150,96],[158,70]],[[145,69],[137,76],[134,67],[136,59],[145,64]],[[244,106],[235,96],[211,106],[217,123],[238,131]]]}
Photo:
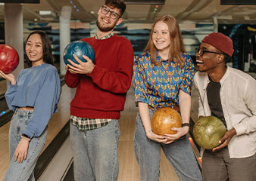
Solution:
{"label": "light blue jeans of the woman in the blue sweatshirt", "polygon": [[45,145],[47,128],[45,128],[40,137],[33,137],[33,139],[30,140],[26,160],[23,160],[20,164],[18,164],[17,161],[14,161],[14,152],[20,142],[21,134],[26,129],[32,115],[33,112],[31,111],[16,109],[13,117],[11,118],[9,131],[10,164],[7,172],[5,173],[4,181],[35,180],[33,170],[36,166],[39,154],[42,152],[43,146]]}

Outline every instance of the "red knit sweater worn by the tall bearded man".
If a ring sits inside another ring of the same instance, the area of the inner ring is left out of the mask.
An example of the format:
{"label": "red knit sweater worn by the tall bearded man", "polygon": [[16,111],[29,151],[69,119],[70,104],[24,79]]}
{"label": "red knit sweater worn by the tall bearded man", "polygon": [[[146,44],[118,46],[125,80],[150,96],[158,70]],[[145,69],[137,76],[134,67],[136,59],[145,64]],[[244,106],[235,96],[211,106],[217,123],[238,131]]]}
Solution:
{"label": "red knit sweater worn by the tall bearded man", "polygon": [[70,114],[81,118],[120,118],[133,75],[133,48],[122,36],[84,38],[95,51],[95,67],[88,75],[66,72],[68,87],[76,87]]}

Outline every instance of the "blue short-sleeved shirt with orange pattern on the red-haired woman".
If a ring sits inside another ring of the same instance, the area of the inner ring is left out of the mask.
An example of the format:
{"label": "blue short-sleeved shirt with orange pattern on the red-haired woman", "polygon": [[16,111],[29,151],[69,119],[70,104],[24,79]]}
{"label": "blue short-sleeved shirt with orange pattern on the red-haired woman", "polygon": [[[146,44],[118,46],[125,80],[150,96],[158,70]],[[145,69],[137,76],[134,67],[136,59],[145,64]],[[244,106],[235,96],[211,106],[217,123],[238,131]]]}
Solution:
{"label": "blue short-sleeved shirt with orange pattern on the red-haired woman", "polygon": [[136,59],[133,65],[133,87],[135,102],[148,103],[151,107],[179,106],[179,90],[191,95],[192,81],[195,75],[194,65],[189,54],[183,54],[183,68],[177,63],[163,60],[158,52],[156,60],[159,66],[151,63],[148,52]]}

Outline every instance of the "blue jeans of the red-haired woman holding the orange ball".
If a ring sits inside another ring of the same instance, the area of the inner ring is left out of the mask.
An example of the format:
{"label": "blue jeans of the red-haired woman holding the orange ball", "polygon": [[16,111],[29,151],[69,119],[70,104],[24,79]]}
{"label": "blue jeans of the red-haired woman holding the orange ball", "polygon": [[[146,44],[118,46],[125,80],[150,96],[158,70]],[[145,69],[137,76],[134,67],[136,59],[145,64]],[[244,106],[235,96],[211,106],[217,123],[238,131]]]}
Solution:
{"label": "blue jeans of the red-haired woman holding the orange ball", "polygon": [[[152,115],[153,112],[149,111],[150,115]],[[201,180],[201,173],[189,140],[186,137],[182,137],[167,145],[148,140],[139,113],[136,118],[134,149],[139,163],[140,179],[143,181],[156,181],[159,179],[161,149],[163,149],[164,155],[170,164],[173,165],[180,180]]]}

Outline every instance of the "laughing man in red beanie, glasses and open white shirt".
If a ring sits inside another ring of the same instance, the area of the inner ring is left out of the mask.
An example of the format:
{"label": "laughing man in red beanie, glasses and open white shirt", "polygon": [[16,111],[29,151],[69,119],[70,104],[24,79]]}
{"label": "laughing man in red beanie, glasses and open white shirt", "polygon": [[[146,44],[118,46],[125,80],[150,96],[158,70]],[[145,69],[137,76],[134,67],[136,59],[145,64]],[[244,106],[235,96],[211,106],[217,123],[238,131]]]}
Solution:
{"label": "laughing man in red beanie, glasses and open white shirt", "polygon": [[220,146],[203,150],[203,180],[256,180],[256,81],[226,66],[233,41],[220,32],[206,36],[196,49],[198,117],[216,116],[226,126]]}

